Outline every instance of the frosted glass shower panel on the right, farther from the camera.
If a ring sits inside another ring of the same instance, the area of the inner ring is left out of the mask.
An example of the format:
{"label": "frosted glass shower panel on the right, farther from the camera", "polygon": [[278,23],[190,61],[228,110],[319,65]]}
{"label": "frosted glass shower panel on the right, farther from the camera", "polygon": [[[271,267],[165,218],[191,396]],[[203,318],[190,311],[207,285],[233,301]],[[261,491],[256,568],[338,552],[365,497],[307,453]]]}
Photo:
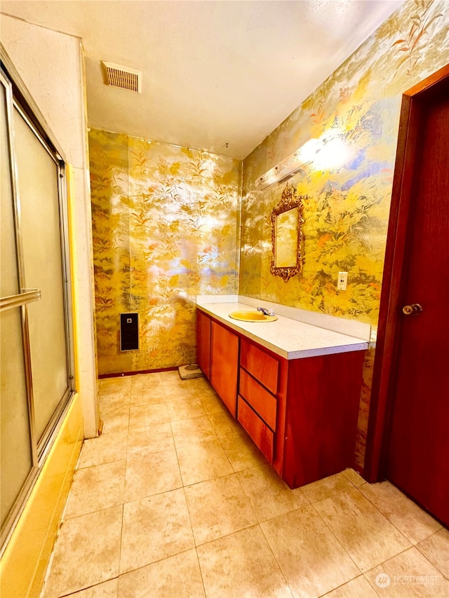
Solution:
{"label": "frosted glass shower panel on the right, farther from the camera", "polygon": [[28,306],[36,438],[69,392],[58,164],[18,109],[13,116],[25,283],[40,289]]}

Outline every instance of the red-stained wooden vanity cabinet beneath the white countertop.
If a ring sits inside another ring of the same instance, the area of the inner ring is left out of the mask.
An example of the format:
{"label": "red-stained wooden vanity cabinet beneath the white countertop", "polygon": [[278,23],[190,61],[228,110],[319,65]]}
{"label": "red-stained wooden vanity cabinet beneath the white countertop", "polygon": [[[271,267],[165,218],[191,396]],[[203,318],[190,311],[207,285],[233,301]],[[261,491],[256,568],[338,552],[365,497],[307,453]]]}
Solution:
{"label": "red-stained wooden vanity cabinet beneath the white countertop", "polygon": [[365,351],[286,359],[197,317],[199,366],[290,488],[353,466]]}

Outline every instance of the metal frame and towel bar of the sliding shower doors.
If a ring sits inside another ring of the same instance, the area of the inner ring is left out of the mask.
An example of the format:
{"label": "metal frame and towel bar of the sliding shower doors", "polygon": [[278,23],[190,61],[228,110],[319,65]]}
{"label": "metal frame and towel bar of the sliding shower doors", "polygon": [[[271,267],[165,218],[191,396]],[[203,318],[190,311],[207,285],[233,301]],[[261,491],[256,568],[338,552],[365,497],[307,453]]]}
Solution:
{"label": "metal frame and towel bar of the sliding shower doors", "polygon": [[[72,280],[69,256],[69,215],[67,208],[67,181],[66,163],[64,154],[58,147],[58,143],[51,133],[48,124],[43,118],[39,108],[29,94],[24,83],[20,79],[15,67],[6,54],[4,47],[0,47],[1,57],[1,85],[6,91],[6,133],[8,137],[7,151],[10,158],[11,191],[13,199],[13,220],[15,226],[15,249],[18,271],[19,294],[11,297],[0,298],[0,311],[11,308],[20,308],[20,320],[22,325],[22,344],[25,366],[25,387],[27,393],[28,420],[29,420],[29,442],[31,447],[32,466],[22,484],[20,492],[15,498],[10,512],[6,516],[1,529],[0,555],[4,552],[15,525],[25,508],[27,498],[32,492],[36,479],[46,461],[56,435],[65,419],[72,401],[75,388],[75,362],[74,362],[74,326],[72,313]],[[67,388],[63,393],[53,415],[46,424],[41,437],[36,437],[34,423],[34,398],[32,381],[31,346],[29,343],[29,324],[27,306],[38,301],[41,297],[39,289],[28,289],[25,280],[25,261],[22,252],[22,237],[20,227],[20,193],[18,189],[18,163],[14,148],[14,127],[13,109],[17,109],[20,116],[25,119],[29,128],[41,143],[48,155],[55,162],[58,176],[58,205],[60,215],[60,249],[62,261],[62,287],[65,313],[65,339],[66,339],[66,363],[67,363]]]}

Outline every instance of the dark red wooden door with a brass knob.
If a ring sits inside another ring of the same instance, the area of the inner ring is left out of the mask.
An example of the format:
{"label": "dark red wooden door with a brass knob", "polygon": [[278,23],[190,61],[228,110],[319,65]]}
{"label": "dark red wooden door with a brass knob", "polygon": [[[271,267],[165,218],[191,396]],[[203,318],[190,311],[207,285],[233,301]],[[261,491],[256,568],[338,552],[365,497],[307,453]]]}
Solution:
{"label": "dark red wooden door with a brass knob", "polygon": [[387,477],[449,525],[449,77],[422,93],[413,109]]}

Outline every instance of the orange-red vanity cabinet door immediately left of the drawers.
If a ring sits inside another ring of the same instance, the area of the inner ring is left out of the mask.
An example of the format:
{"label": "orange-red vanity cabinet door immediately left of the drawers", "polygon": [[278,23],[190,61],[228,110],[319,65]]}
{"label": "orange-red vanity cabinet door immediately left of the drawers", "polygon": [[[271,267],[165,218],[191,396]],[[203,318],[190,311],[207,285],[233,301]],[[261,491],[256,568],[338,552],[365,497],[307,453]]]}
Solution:
{"label": "orange-red vanity cabinet door immediately left of the drawers", "polygon": [[217,322],[211,325],[210,383],[236,416],[239,337]]}

